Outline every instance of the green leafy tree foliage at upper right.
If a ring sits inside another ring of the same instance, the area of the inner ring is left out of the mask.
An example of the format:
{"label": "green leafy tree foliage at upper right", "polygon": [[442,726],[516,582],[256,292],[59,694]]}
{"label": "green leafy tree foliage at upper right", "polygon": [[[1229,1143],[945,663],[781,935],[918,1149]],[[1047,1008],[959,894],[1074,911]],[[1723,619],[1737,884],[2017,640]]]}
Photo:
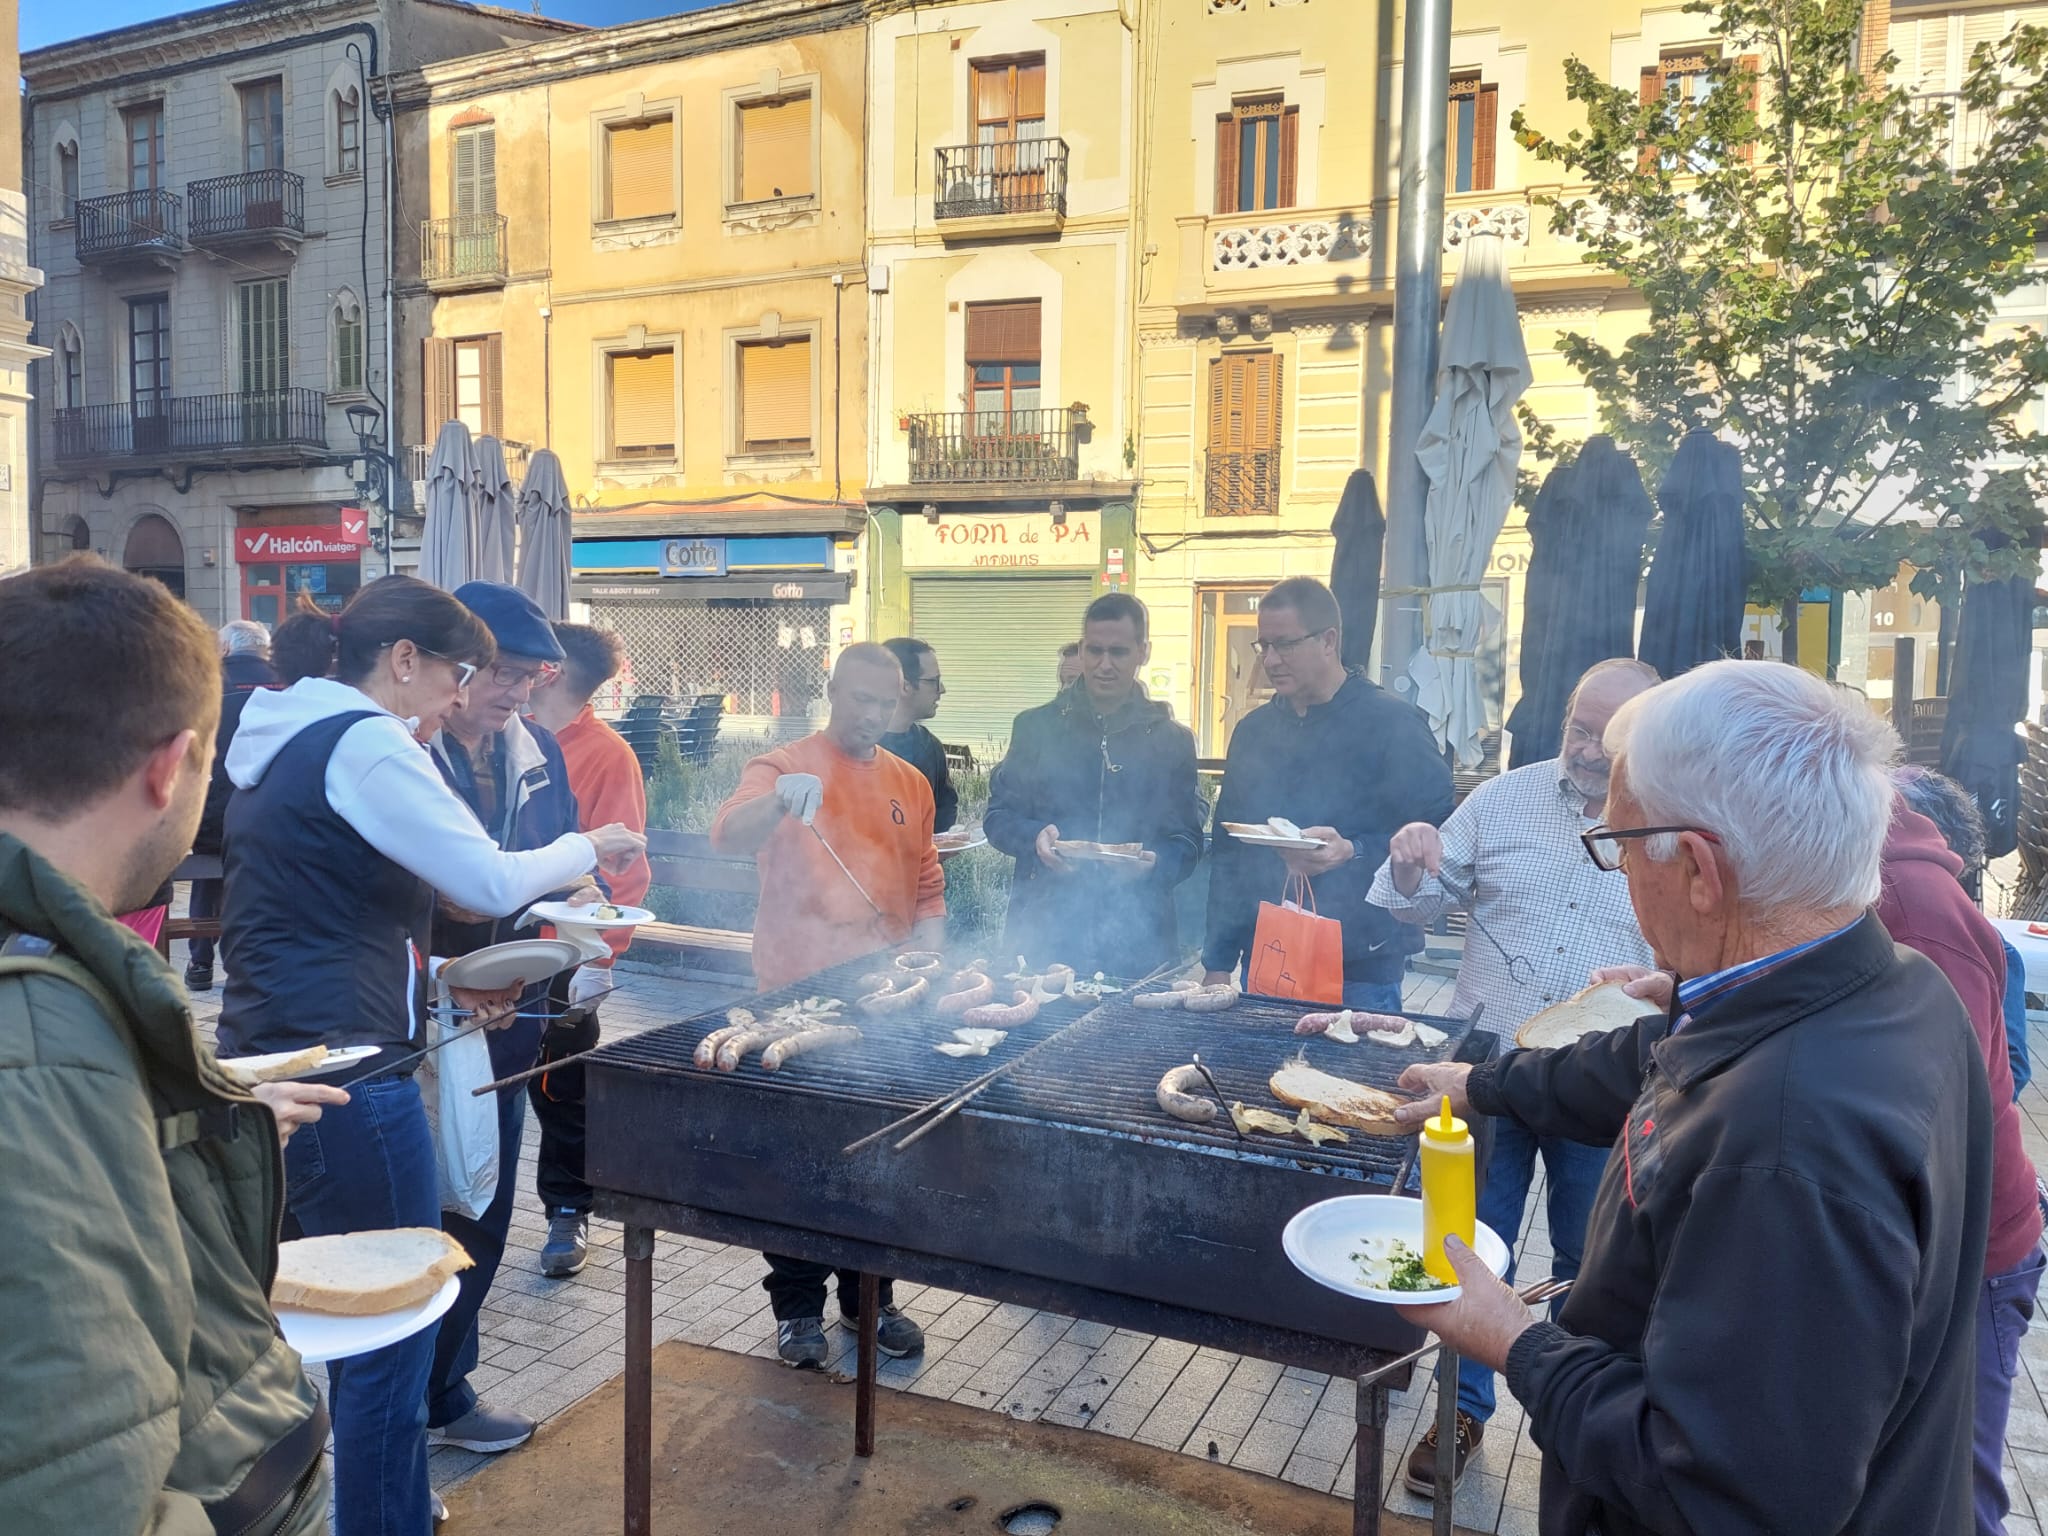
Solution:
{"label": "green leafy tree foliage at upper right", "polygon": [[1606,430],[1653,489],[1694,426],[1741,446],[1757,602],[1884,586],[1901,561],[1923,596],[2032,573],[2048,342],[1993,319],[2042,281],[2048,33],[1980,45],[1960,100],[1917,98],[1892,55],[1860,68],[1862,0],[1688,10],[1720,43],[1702,96],[1645,102],[1571,59],[1585,127],[1513,121],[1565,172],[1552,229],[1647,309],[1620,346],[1563,338]]}

